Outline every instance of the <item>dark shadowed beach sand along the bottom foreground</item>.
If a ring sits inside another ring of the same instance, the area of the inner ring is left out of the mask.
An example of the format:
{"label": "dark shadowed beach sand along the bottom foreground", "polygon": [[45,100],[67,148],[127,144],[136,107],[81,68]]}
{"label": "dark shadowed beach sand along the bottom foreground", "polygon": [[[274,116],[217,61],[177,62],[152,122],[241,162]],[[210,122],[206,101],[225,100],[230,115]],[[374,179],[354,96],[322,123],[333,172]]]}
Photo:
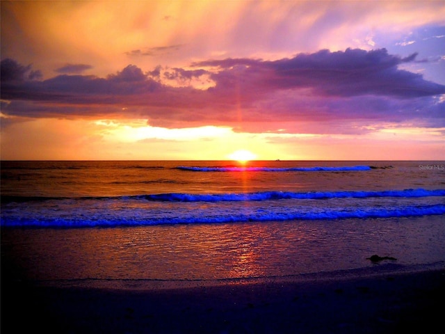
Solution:
{"label": "dark shadowed beach sand along the bottom foreground", "polygon": [[2,280],[1,333],[435,333],[444,321],[445,269],[173,289],[88,286]]}

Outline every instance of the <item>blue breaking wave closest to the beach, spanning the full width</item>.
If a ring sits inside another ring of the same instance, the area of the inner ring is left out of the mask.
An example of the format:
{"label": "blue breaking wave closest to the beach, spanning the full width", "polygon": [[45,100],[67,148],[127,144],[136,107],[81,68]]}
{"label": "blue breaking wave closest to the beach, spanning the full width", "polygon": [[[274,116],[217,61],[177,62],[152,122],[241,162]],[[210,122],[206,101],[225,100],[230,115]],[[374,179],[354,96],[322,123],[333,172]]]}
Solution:
{"label": "blue breaking wave closest to the beach, spanning the full width", "polygon": [[218,214],[205,215],[197,210],[192,216],[176,216],[169,218],[32,218],[32,219],[4,219],[3,227],[29,228],[88,228],[88,227],[117,227],[143,225],[177,225],[177,224],[209,224],[209,223],[243,223],[260,221],[320,221],[347,218],[394,218],[409,216],[428,216],[445,214],[445,205],[404,206],[375,208],[362,207],[357,209],[327,209],[321,211],[305,211],[289,209],[286,212],[253,212],[250,214]]}

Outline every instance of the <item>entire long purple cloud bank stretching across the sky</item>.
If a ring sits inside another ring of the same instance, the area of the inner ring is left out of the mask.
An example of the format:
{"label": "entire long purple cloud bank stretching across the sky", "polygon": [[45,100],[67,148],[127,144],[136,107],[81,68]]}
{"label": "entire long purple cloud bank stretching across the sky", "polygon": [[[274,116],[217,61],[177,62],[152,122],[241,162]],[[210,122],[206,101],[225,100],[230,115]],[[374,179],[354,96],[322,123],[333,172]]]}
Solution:
{"label": "entire long purple cloud bank stretching across the sky", "polygon": [[[227,125],[246,132],[305,132],[306,127],[306,132],[355,133],[378,122],[444,127],[445,102],[435,95],[445,94],[445,86],[399,68],[416,56],[401,58],[386,49],[322,50],[277,61],[201,61],[191,70],[159,66],[143,72],[128,65],[105,78],[63,74],[43,81],[33,80],[31,65],[6,59],[1,98],[9,103],[2,112],[143,117],[156,126]],[[187,86],[202,77],[213,86]],[[163,79],[178,85],[162,84]]]}

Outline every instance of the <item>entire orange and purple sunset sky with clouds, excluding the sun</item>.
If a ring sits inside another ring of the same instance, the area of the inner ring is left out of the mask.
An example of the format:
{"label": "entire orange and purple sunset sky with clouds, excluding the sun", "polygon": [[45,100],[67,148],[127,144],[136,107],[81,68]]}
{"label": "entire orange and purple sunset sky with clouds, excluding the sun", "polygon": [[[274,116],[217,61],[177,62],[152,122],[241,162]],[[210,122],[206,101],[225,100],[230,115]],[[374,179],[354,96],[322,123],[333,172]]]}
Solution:
{"label": "entire orange and purple sunset sky with clouds, excluding the sun", "polygon": [[3,160],[445,160],[445,1],[0,6]]}

